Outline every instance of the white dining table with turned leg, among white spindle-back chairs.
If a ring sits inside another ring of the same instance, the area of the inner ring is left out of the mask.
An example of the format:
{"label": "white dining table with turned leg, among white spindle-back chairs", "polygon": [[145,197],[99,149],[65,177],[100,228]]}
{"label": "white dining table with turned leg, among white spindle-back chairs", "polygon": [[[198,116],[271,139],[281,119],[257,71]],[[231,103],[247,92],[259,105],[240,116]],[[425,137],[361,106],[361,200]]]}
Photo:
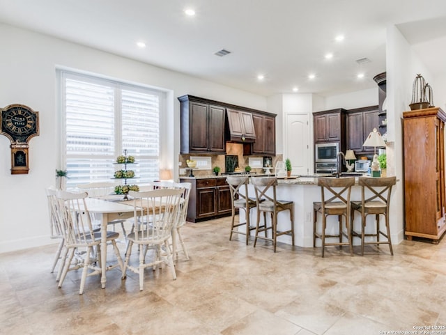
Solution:
{"label": "white dining table with turned leg, among white spindle-back chairs", "polygon": [[[133,217],[133,201],[128,201],[128,205],[113,201],[113,198],[100,199],[100,198],[86,198],[86,206],[89,212],[100,215],[100,253],[101,260],[101,279],[100,283],[102,288],[105,288],[106,272],[107,272],[107,223],[116,219],[130,219]],[[122,200],[118,198],[118,200]]]}

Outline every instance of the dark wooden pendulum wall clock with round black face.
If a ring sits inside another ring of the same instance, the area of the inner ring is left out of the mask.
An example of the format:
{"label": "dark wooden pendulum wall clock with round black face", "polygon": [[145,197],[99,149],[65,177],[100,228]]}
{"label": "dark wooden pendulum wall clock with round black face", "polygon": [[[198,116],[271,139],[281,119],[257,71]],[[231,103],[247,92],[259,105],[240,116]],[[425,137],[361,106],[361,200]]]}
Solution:
{"label": "dark wooden pendulum wall clock with round black face", "polygon": [[39,134],[38,113],[24,104],[10,104],[1,109],[0,134],[11,141],[11,174],[29,171],[29,140]]}

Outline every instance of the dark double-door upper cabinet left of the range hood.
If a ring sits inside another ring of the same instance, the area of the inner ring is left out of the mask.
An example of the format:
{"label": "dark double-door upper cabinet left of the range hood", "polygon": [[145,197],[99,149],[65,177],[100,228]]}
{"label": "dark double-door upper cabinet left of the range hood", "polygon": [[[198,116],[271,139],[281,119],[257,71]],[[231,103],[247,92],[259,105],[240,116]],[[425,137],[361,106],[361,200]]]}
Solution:
{"label": "dark double-door upper cabinet left of the range hood", "polygon": [[180,153],[226,153],[226,109],[210,100],[183,95],[180,100]]}

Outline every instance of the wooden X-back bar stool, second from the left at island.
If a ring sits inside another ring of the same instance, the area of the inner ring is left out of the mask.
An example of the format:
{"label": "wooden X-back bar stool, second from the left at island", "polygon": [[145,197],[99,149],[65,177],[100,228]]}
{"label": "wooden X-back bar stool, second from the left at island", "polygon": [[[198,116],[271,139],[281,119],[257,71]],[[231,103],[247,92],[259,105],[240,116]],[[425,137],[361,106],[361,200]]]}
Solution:
{"label": "wooden X-back bar stool, second from the left at island", "polygon": [[[274,245],[274,252],[276,252],[277,247],[277,236],[280,235],[291,235],[291,242],[294,245],[294,210],[293,201],[277,200],[276,196],[276,186],[277,178],[275,177],[251,177],[252,185],[254,185],[254,190],[256,192],[256,203],[257,203],[257,223],[256,223],[256,237],[254,238],[254,247],[256,247],[257,238],[263,240],[272,241]],[[272,196],[268,196],[266,192],[268,189],[272,189]],[[277,215],[283,210],[290,211],[290,221],[291,228],[287,231],[277,231]],[[260,226],[260,216],[263,212],[263,222],[264,225]],[[270,213],[271,216],[271,226],[268,227],[266,224],[266,213]],[[272,231],[272,237],[268,237],[267,231]],[[259,232],[264,231],[265,236],[259,236]]]}

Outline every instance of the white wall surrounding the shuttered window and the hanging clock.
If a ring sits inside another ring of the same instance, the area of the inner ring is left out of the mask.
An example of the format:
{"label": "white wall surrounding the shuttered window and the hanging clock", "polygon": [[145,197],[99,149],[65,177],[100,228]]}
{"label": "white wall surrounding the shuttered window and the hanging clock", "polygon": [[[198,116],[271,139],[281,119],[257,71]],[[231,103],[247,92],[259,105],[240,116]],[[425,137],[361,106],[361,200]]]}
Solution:
{"label": "white wall surrounding the shuttered window and the hanging clock", "polygon": [[57,155],[56,66],[164,88],[168,117],[174,119],[174,127],[167,130],[174,139],[166,155],[172,164],[179,153],[176,97],[192,94],[267,110],[266,98],[259,95],[13,26],[0,24],[0,40],[0,107],[26,104],[40,112],[40,136],[29,143],[29,174],[10,175],[10,141],[0,136],[0,252],[51,242],[45,187],[55,185],[54,170],[62,167]]}

